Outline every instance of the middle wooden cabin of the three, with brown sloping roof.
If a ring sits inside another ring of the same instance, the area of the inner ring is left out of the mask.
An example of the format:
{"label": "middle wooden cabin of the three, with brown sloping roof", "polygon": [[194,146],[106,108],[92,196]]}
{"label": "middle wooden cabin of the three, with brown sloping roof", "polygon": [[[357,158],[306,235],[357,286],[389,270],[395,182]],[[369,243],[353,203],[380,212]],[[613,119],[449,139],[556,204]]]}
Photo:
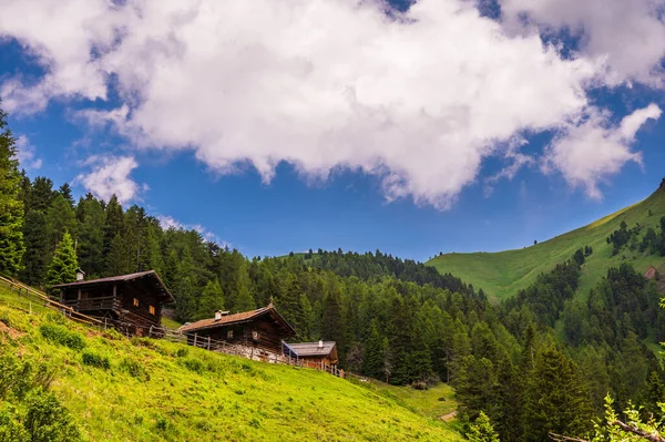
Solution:
{"label": "middle wooden cabin of the three, with brown sloping roof", "polygon": [[257,310],[233,315],[216,311],[214,318],[186,323],[178,331],[187,335],[187,341],[194,336],[197,340],[209,337],[242,348],[245,356],[262,360],[280,356],[282,340],[296,335],[272,302]]}

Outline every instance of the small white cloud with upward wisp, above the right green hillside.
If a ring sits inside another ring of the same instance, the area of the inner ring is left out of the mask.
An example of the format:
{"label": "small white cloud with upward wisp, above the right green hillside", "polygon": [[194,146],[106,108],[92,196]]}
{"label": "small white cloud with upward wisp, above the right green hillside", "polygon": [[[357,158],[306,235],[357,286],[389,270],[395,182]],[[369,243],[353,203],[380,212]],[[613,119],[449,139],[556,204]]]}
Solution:
{"label": "small white cloud with upward wisp, above the right green hillside", "polygon": [[597,183],[618,173],[628,162],[642,164],[642,154],[631,146],[642,125],[657,120],[662,111],[651,104],[625,116],[612,126],[606,112],[592,112],[581,122],[571,122],[548,147],[543,169],[561,171],[571,186],[584,187],[592,198],[602,196]]}

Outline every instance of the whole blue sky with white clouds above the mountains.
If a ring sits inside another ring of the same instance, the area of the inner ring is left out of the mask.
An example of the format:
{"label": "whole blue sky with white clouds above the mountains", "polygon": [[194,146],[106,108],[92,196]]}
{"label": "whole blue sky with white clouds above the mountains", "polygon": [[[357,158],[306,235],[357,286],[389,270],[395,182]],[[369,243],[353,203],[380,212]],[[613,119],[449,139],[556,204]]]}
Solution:
{"label": "whole blue sky with white clouds above the mountains", "polygon": [[29,176],[247,256],[521,248],[665,176],[665,0],[3,0]]}

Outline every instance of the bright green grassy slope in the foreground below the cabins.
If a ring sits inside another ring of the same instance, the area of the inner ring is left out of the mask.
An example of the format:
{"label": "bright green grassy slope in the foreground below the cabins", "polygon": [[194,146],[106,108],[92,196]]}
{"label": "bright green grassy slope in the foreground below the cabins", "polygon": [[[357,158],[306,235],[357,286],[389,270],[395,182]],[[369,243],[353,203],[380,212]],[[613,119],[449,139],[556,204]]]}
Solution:
{"label": "bright green grassy slope in the foreground below the cabins", "polygon": [[[90,441],[462,440],[432,419],[453,407],[434,399],[452,395],[446,386],[368,388],[310,369],[127,340],[19,301],[0,286],[0,352],[54,368],[51,389]],[[72,336],[83,348],[63,345]]]}

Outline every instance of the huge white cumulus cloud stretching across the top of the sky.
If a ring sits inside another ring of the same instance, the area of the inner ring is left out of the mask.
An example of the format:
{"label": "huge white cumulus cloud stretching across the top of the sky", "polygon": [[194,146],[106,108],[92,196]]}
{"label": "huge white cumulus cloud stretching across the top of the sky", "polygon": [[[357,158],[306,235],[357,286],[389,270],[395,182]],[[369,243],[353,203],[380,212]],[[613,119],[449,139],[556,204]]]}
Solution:
{"label": "huge white cumulus cloud stretching across the top of the sky", "polygon": [[389,201],[438,208],[490,156],[511,164],[501,177],[529,164],[505,147],[522,133],[601,112],[585,89],[604,54],[564,59],[462,0],[392,16],[379,0],[7,0],[0,34],[47,74],[2,88],[33,112],[112,86],[117,109],[82,115],[137,147],[192,150],[221,173],[250,164],[266,183],[280,162],[307,178],[360,171]]}

